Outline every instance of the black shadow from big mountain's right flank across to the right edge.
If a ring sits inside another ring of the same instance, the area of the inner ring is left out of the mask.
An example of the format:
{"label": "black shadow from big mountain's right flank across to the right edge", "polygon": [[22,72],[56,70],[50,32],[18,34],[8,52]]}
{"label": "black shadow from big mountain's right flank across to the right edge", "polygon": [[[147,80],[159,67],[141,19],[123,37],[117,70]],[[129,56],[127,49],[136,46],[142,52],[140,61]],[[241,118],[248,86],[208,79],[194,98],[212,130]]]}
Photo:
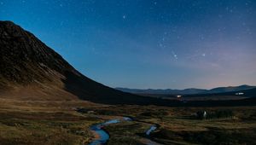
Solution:
{"label": "black shadow from big mountain's right flank across to the right edge", "polygon": [[103,104],[127,104],[127,105],[157,105],[169,107],[217,107],[217,106],[255,106],[256,99],[230,101],[190,101],[180,102],[160,99],[148,96],[137,96],[114,90],[99,84],[82,74],[72,72],[65,73],[66,79],[62,79],[65,90],[78,96],[79,99]]}

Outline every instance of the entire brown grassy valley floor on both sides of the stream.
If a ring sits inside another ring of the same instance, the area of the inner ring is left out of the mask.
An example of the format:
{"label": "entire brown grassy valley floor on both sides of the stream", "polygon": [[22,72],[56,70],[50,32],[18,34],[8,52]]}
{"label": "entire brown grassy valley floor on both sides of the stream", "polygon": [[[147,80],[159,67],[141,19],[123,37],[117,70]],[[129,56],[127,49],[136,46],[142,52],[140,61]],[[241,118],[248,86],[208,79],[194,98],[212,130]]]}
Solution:
{"label": "entire brown grassy valley floor on both sides of the stream", "polygon": [[[256,144],[256,107],[108,106],[90,102],[0,100],[0,144],[88,144],[90,125],[120,116],[131,122],[108,125],[108,144],[146,144],[144,132],[162,144]],[[78,112],[77,108],[83,108]],[[232,110],[223,119],[195,119],[197,111]]]}

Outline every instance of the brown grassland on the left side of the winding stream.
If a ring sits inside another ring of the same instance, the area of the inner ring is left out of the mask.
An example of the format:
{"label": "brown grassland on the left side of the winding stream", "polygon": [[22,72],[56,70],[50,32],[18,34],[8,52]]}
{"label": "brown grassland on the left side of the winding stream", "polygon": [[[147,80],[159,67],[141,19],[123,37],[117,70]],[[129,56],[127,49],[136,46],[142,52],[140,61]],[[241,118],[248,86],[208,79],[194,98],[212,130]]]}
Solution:
{"label": "brown grassland on the left side of the winding stream", "polygon": [[1,100],[0,144],[87,144],[89,126],[100,119],[83,116],[75,106],[87,102],[15,102]]}

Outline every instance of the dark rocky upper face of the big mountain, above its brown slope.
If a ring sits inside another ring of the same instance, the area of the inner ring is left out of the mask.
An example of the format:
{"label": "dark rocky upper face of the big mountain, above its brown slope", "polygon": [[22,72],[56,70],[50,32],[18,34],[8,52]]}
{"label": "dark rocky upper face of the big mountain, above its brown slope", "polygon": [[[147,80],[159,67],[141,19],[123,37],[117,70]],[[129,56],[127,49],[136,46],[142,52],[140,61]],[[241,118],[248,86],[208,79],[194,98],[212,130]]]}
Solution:
{"label": "dark rocky upper face of the big mountain, above its brown slope", "polygon": [[50,80],[52,70],[73,71],[61,55],[10,21],[0,21],[0,38],[0,74],[7,81],[29,84]]}

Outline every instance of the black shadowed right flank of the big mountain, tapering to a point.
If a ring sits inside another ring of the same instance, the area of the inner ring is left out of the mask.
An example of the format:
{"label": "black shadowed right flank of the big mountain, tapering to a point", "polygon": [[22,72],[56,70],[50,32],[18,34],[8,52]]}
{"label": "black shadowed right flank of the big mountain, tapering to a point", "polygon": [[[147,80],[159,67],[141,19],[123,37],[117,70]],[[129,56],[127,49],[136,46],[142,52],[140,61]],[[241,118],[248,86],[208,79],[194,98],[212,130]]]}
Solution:
{"label": "black shadowed right flank of the big mountain, tapering to a point", "polygon": [[82,74],[66,72],[67,79],[63,79],[65,90],[78,96],[80,99],[103,104],[135,104],[135,105],[163,105],[175,106],[177,101],[168,101],[147,96],[136,96],[119,90],[114,90],[99,84]]}

